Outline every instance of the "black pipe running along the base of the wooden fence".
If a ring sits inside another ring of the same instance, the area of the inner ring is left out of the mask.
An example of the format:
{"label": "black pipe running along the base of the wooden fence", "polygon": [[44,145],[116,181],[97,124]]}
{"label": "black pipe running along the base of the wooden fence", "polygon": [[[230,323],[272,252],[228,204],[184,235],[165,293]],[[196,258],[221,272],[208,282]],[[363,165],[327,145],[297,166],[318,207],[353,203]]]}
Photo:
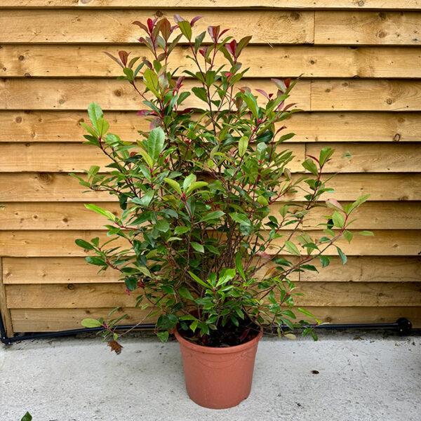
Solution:
{"label": "black pipe running along the base of the wooden fence", "polygon": [[[136,330],[147,330],[154,329],[154,324],[144,324],[140,326],[135,325],[124,325],[116,326],[116,330],[131,329],[135,328]],[[287,326],[285,326],[287,328]],[[317,329],[393,329],[396,330],[400,335],[409,335],[412,330],[412,323],[405,317],[401,317],[396,320],[394,323],[361,323],[361,324],[326,324],[321,326],[316,326]],[[13,342],[20,342],[22,340],[30,339],[46,339],[46,338],[58,338],[60,336],[70,336],[76,335],[79,333],[91,333],[99,332],[103,330],[102,328],[80,328],[72,330],[61,330],[60,332],[41,332],[41,333],[31,333],[29,335],[20,335],[13,336],[9,338],[6,333],[6,328],[4,327],[3,318],[0,313],[0,340],[5,345],[11,345]]]}

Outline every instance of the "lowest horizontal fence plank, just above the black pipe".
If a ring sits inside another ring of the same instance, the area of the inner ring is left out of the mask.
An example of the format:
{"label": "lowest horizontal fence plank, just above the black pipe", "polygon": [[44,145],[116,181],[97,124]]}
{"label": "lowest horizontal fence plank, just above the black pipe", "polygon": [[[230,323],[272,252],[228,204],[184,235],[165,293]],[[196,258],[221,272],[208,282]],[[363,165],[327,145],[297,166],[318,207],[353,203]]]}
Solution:
{"label": "lowest horizontal fence plank, just above the black pipe", "polygon": [[[12,309],[13,330],[18,332],[57,332],[79,329],[82,319],[105,317],[112,308],[103,309]],[[414,328],[421,328],[421,307],[306,307],[318,319],[328,323],[394,323],[406,317]],[[123,324],[135,324],[147,310],[122,308],[118,315],[128,314]],[[158,316],[145,323],[154,323]]]}

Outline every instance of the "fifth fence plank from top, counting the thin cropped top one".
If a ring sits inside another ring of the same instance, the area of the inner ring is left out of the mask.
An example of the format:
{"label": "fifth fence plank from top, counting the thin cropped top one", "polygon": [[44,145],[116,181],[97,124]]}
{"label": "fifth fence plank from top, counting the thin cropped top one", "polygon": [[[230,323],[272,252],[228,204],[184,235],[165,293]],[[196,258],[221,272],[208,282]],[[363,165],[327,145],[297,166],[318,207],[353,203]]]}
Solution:
{"label": "fifth fence plank from top, counting the thin cropped top one", "polygon": [[[108,111],[106,119],[122,139],[134,141],[149,122],[135,112]],[[0,111],[0,142],[82,142],[79,122],[86,111]],[[285,122],[288,142],[420,142],[421,113],[300,112]]]}

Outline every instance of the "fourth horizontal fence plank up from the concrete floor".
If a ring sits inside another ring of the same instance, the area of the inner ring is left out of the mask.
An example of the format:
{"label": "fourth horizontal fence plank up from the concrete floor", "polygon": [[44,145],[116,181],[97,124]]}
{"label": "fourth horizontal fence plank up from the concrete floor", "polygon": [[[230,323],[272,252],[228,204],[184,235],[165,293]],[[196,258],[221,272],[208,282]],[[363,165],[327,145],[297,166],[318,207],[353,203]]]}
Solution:
{"label": "fourth horizontal fence plank up from the concrete floor", "polygon": [[[307,231],[314,239],[323,236],[321,231]],[[375,236],[355,235],[351,244],[345,239],[337,245],[347,255],[396,255],[416,256],[421,249],[419,230],[373,230]],[[289,232],[283,232],[288,235]],[[265,234],[265,233],[264,233]],[[5,257],[77,257],[86,256],[84,250],[76,246],[75,239],[89,240],[95,236],[105,241],[107,236],[103,231],[0,231],[0,255]],[[278,250],[276,245],[283,244],[283,238],[274,240],[274,246],[266,252],[274,254]],[[114,242],[115,246],[127,247],[123,240]],[[330,247],[326,254],[337,255],[334,247]]]}

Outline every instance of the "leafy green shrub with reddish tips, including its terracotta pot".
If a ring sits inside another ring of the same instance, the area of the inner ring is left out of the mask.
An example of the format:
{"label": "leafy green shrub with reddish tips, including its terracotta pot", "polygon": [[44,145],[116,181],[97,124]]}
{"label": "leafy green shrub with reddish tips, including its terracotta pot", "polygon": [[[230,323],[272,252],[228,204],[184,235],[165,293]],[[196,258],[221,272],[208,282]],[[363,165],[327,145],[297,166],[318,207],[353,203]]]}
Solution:
{"label": "leafy green shrub with reddish tips, including its terracotta pot", "polygon": [[[305,320],[297,318],[293,299],[302,294],[290,277],[315,271],[314,259],[329,265],[323,253],[331,248],[346,262],[335,242],[351,241],[352,213],[368,195],[347,206],[335,199],[322,205],[320,196],[333,192],[322,178],[330,147],[307,156],[301,175],[291,173],[294,156],[282,143],[293,133],[283,134],[283,123],[298,112],[286,104],[296,81],[272,79],[271,93],[243,86],[247,69],[239,58],[250,36],[237,42],[212,26],[193,37],[199,18],[175,15],[173,26],[166,18],[133,22],[145,31],[139,41],[151,58],[110,55],[123,69],[119,79],[142,98],[138,114],[149,119],[150,130],[126,142],[109,131],[99,105],[89,106],[92,125],[81,123],[85,138],[109,157],[111,171],[91,166],[87,178],[72,175],[89,190],[117,196],[121,215],[87,204],[109,220],[109,240],[76,244],[95,253],[88,263],[100,272],[115,269],[126,293],[138,295],[146,312],[139,324],[156,316],[163,342],[175,333],[189,396],[228,408],[250,392],[263,328],[294,338],[293,329],[302,327],[302,335],[316,339],[321,322],[302,308],[296,310]],[[178,41],[196,67],[184,74],[170,69]],[[318,239],[303,228],[316,206],[333,208]],[[115,326],[123,318],[85,319],[83,326],[102,326],[119,351]]]}

